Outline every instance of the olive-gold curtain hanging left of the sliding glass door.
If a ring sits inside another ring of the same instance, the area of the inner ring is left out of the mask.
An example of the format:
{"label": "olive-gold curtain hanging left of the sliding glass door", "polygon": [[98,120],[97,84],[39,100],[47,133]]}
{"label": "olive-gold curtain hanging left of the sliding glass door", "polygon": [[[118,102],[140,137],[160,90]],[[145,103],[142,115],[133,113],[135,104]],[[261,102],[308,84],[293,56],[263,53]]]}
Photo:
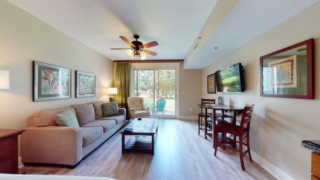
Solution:
{"label": "olive-gold curtain hanging left of the sliding glass door", "polygon": [[119,104],[127,104],[126,97],[129,96],[130,83],[130,62],[117,62],[115,68],[114,87],[118,89],[118,94],[115,96],[115,101]]}

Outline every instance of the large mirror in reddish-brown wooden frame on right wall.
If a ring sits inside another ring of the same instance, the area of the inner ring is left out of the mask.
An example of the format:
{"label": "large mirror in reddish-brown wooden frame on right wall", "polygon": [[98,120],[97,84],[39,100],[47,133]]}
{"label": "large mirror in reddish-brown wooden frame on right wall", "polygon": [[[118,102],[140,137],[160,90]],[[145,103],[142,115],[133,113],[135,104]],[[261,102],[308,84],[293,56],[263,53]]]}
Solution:
{"label": "large mirror in reddish-brown wooden frame on right wall", "polygon": [[260,57],[260,96],[314,99],[313,38]]}

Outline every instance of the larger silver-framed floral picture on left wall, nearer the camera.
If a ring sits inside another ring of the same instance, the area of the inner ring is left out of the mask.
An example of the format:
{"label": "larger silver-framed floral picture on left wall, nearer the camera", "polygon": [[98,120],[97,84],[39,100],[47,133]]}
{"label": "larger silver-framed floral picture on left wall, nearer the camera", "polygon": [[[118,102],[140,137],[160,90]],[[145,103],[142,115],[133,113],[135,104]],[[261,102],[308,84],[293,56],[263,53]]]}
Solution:
{"label": "larger silver-framed floral picture on left wall, nearer the camera", "polygon": [[71,69],[33,61],[33,101],[71,98]]}

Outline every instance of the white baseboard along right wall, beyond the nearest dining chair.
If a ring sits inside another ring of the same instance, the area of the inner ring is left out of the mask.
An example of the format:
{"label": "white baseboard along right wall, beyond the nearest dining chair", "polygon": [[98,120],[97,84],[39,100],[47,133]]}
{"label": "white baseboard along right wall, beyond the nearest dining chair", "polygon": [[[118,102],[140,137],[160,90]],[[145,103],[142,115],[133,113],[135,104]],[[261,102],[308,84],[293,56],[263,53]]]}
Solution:
{"label": "white baseboard along right wall, beyond the nearest dining chair", "polygon": [[267,161],[265,158],[261,157],[254,151],[251,151],[252,160],[258,163],[261,167],[263,167],[266,171],[272,174],[277,179],[287,179],[287,180],[294,180],[291,176],[287,173],[283,172],[281,169]]}

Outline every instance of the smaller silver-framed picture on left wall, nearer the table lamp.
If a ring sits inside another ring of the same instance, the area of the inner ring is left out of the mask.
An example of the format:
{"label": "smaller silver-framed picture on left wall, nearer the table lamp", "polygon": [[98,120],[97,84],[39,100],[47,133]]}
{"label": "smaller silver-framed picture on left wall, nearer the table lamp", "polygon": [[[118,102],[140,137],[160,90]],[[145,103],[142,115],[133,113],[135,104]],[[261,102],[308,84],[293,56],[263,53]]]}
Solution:
{"label": "smaller silver-framed picture on left wall, nearer the table lamp", "polygon": [[76,70],[75,97],[95,96],[95,74]]}

